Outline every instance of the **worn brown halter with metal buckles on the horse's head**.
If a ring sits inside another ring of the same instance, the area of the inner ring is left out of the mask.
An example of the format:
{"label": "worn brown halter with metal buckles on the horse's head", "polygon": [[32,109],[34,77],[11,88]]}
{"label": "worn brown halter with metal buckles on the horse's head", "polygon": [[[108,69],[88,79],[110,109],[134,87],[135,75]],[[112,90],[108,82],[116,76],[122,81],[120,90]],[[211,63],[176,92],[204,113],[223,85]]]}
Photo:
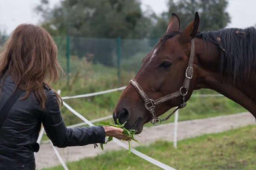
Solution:
{"label": "worn brown halter with metal buckles on the horse's head", "polygon": [[[178,109],[186,107],[185,96],[188,93],[189,83],[190,83],[190,80],[192,79],[192,76],[193,76],[194,57],[195,57],[195,40],[192,39],[191,40],[191,52],[190,52],[190,56],[189,56],[189,63],[188,63],[188,67],[186,68],[186,74],[185,74],[185,79],[184,79],[184,82],[183,82],[183,86],[180,88],[179,91],[176,91],[175,93],[169,94],[167,96],[163,96],[160,99],[156,99],[156,100],[149,99],[148,96],[143,91],[143,89],[140,87],[139,83],[135,79],[131,79],[131,81],[130,81],[131,85],[134,86],[134,88],[137,90],[137,92],[143,98],[143,100],[145,102],[145,108],[150,112],[151,117],[152,117],[151,123],[153,123],[155,126],[160,125],[160,123],[162,121],[168,120],[172,116],[172,114],[175,113]],[[182,89],[186,89],[185,94],[183,94],[181,92]],[[160,119],[159,117],[156,116],[156,113],[154,111],[154,108],[156,107],[156,105],[159,105],[160,103],[166,102],[170,99],[174,99],[178,96],[183,96],[183,102],[182,102],[181,105],[179,105],[171,114],[169,114],[164,119]],[[156,124],[157,122],[159,122],[159,123]]]}

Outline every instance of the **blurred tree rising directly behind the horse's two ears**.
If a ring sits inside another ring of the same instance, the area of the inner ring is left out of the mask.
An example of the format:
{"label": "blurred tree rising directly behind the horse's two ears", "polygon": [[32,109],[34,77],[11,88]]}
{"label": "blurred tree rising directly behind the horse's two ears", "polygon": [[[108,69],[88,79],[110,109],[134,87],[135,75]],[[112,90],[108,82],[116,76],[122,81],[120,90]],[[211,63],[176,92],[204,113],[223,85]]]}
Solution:
{"label": "blurred tree rising directly behind the horse's two ears", "polygon": [[180,29],[183,30],[194,18],[195,11],[200,15],[199,31],[218,30],[230,23],[226,11],[227,0],[169,0],[169,11],[163,12],[157,19],[151,37],[160,37],[166,32],[172,12],[180,17]]}

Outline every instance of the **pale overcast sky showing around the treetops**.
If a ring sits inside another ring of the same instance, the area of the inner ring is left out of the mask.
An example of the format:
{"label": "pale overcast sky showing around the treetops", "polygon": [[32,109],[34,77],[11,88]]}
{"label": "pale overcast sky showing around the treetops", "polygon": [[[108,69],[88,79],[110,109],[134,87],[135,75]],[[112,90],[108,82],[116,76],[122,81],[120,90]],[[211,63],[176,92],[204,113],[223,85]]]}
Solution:
{"label": "pale overcast sky showing around the treetops", "polygon": [[[59,1],[49,0],[51,5]],[[40,0],[0,0],[0,29],[5,28],[9,34],[21,23],[38,23],[39,18],[33,7],[39,2]],[[149,5],[158,14],[167,9],[166,0],[142,0],[142,3],[143,8]],[[227,27],[245,28],[256,24],[256,0],[229,0],[227,11],[231,17],[231,23]]]}

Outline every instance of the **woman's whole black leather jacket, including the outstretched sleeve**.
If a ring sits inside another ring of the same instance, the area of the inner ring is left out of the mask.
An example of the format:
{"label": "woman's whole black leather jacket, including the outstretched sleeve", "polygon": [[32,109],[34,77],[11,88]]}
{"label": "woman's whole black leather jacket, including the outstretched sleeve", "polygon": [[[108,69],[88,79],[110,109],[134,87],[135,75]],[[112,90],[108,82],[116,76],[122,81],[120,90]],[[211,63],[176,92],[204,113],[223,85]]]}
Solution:
{"label": "woman's whole black leather jacket, including the outstretched sleeve", "polygon": [[[2,79],[0,79],[0,87]],[[15,83],[10,76],[4,82],[0,109],[13,93]],[[35,170],[35,150],[41,123],[56,147],[83,146],[105,142],[102,126],[67,128],[61,117],[57,98],[45,87],[47,102],[44,111],[39,108],[35,94],[17,100],[0,129],[0,170]],[[20,96],[22,98],[25,92]]]}

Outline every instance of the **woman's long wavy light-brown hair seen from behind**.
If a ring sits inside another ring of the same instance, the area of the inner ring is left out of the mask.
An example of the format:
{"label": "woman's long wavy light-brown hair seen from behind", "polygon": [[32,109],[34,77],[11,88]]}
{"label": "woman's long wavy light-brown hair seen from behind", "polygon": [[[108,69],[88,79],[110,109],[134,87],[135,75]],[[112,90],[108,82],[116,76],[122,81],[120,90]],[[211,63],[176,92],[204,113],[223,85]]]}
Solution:
{"label": "woman's long wavy light-brown hair seen from behind", "polygon": [[[44,83],[52,89],[50,82],[53,83],[58,78],[58,69],[64,72],[58,63],[57,53],[55,42],[44,28],[33,24],[20,24],[3,45],[0,54],[0,77],[4,75],[4,82],[7,75],[11,75],[16,88],[26,91],[23,99],[34,91],[44,109],[47,100]],[[2,90],[3,83],[1,94]],[[58,103],[62,105],[61,96],[56,91],[54,93]]]}

